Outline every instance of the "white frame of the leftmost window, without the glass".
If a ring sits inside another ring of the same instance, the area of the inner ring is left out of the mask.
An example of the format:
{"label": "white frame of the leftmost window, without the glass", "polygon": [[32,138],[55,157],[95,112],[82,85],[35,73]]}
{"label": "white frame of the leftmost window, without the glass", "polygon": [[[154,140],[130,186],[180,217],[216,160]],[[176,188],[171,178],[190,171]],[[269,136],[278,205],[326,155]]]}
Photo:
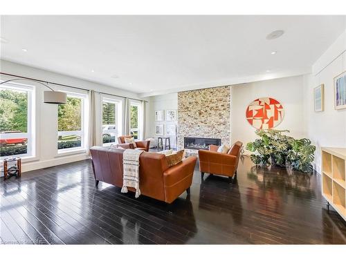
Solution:
{"label": "white frame of the leftmost window, without the glass", "polygon": [[[0,80],[1,82],[3,80]],[[15,138],[26,138],[26,153],[25,154],[18,154],[18,155],[6,155],[3,157],[0,157],[0,160],[9,158],[9,157],[21,157],[25,160],[31,160],[35,159],[37,155],[36,151],[36,88],[35,86],[31,86],[28,84],[19,84],[19,83],[13,83],[8,82],[6,84],[0,85],[1,89],[7,89],[7,90],[17,90],[21,92],[27,93],[27,102],[28,102],[28,108],[27,108],[27,115],[26,115],[26,133],[0,133],[0,139],[1,140],[10,140]]]}

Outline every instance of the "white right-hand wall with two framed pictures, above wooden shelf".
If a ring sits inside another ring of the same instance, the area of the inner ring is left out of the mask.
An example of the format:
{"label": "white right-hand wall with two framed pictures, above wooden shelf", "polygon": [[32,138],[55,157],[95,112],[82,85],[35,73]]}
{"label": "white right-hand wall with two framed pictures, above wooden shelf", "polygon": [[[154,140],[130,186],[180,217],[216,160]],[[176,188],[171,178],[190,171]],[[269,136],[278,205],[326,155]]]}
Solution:
{"label": "white right-hand wall with two framed pictures, above wooden shelf", "polygon": [[[346,31],[313,64],[312,74],[304,77],[304,103],[307,137],[316,145],[316,171],[320,173],[320,148],[346,148],[346,109],[334,108],[334,77],[346,70]],[[313,88],[325,84],[325,111],[315,113]]]}

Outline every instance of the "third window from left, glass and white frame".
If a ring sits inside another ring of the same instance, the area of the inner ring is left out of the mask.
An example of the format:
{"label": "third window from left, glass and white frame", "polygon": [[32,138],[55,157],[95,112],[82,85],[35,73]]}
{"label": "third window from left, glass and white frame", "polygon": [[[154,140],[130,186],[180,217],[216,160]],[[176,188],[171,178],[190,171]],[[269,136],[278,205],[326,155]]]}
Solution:
{"label": "third window from left, glass and white frame", "polygon": [[117,142],[121,135],[121,106],[118,99],[102,98],[102,144]]}

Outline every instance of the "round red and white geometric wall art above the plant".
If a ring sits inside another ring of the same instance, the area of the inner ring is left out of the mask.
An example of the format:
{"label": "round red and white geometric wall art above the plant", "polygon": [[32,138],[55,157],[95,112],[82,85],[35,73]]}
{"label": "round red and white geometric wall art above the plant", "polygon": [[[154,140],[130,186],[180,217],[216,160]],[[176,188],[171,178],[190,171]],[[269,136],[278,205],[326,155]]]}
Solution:
{"label": "round red and white geometric wall art above the plant", "polygon": [[273,98],[258,98],[248,105],[246,119],[254,128],[275,128],[284,119],[284,108]]}

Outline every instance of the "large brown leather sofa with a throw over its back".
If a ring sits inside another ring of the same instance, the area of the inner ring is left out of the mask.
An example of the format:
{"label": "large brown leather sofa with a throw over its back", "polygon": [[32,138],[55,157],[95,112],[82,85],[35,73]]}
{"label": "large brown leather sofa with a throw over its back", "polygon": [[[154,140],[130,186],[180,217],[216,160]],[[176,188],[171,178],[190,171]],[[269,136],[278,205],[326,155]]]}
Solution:
{"label": "large brown leather sofa with a throw over its back", "polygon": [[[122,153],[124,149],[93,146],[90,148],[95,184],[99,181],[122,187]],[[197,157],[188,157],[168,167],[163,154],[143,152],[140,155],[140,193],[172,203],[184,191],[190,193]],[[129,191],[135,191],[128,188]]]}

